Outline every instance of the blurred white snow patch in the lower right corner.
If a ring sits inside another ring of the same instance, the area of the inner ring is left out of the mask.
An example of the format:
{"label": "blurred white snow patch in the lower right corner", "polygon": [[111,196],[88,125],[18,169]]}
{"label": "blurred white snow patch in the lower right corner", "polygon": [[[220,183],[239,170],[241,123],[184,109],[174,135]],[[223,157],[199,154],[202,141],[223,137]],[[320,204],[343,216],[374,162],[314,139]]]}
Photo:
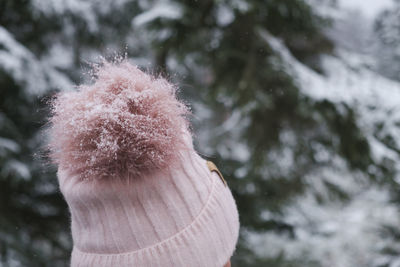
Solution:
{"label": "blurred white snow patch in the lower right corner", "polygon": [[400,223],[397,207],[387,194],[368,190],[347,204],[321,206],[309,194],[286,211],[287,222],[295,225],[295,239],[275,233],[249,233],[256,253],[288,258],[308,256],[323,267],[370,266],[381,241],[383,222]]}

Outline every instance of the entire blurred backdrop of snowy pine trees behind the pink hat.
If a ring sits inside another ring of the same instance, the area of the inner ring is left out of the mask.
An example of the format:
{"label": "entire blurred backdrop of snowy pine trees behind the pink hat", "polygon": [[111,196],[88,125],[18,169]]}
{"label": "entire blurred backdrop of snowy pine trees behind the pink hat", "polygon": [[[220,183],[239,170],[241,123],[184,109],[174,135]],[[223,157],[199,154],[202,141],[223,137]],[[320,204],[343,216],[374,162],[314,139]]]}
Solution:
{"label": "entire blurred backdrop of snowy pine trees behind the pink hat", "polygon": [[400,1],[0,2],[0,266],[68,266],[46,99],[126,53],[179,84],[233,266],[400,267]]}

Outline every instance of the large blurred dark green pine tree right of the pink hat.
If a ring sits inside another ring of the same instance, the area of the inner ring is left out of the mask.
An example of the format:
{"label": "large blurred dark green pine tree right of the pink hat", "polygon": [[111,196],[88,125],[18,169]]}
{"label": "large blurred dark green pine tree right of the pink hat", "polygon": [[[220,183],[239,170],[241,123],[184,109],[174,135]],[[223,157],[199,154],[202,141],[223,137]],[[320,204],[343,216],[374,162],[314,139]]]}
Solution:
{"label": "large blurred dark green pine tree right of the pink hat", "polygon": [[[319,55],[334,48],[324,34],[329,21],[300,0],[168,2],[178,10],[174,16],[140,18],[136,26],[154,37],[149,43],[158,66],[180,73],[189,84],[187,97],[199,102],[193,105],[199,149],[229,177],[241,214],[243,239],[233,265],[317,265],[307,255],[301,263],[256,255],[245,235],[271,231],[296,239],[283,210],[310,187],[304,177],[335,166],[335,157],[375,178],[367,172],[373,161],[352,107],[301,94],[266,37],[279,38],[297,60],[322,72]],[[343,188],[321,183],[329,195],[317,195],[319,201],[349,198]]]}

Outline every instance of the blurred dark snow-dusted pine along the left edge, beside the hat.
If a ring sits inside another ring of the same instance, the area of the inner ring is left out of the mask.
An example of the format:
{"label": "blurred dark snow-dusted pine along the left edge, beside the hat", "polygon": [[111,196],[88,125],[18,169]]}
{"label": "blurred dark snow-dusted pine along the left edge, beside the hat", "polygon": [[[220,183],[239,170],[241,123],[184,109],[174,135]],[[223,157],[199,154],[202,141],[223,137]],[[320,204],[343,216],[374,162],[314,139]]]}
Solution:
{"label": "blurred dark snow-dusted pine along the left edge, beside the hat", "polygon": [[64,266],[67,259],[66,205],[54,170],[34,160],[46,115],[40,97],[55,88],[56,74],[38,56],[60,30],[57,22],[37,17],[29,1],[0,3],[1,266]]}

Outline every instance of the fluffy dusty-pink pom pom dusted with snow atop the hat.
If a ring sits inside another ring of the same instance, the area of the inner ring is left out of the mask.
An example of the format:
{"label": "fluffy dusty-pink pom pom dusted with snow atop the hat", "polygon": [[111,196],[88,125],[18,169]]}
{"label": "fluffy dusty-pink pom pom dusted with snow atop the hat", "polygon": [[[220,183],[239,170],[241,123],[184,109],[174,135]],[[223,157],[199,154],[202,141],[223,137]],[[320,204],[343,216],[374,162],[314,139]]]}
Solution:
{"label": "fluffy dusty-pink pom pom dusted with snow atop the hat", "polygon": [[54,163],[83,179],[126,177],[172,164],[178,150],[191,146],[183,137],[190,111],[171,83],[127,60],[103,62],[93,77],[92,85],[51,101]]}

